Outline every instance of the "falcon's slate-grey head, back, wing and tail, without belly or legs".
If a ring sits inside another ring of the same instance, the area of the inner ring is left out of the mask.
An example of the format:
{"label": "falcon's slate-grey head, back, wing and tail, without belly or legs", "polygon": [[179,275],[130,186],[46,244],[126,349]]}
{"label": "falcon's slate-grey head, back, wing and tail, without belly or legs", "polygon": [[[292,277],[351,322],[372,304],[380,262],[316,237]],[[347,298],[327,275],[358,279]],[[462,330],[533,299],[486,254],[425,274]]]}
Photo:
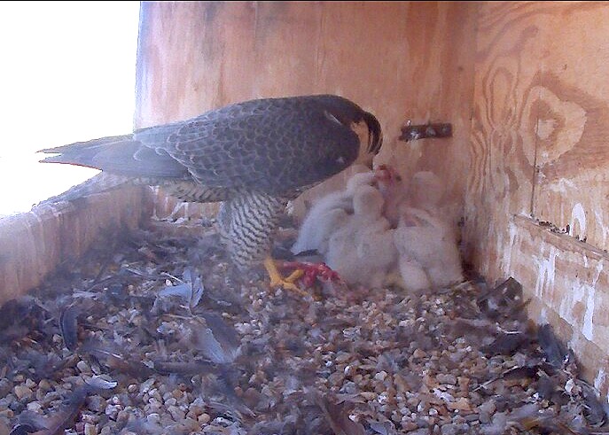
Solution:
{"label": "falcon's slate-grey head, back, wing and tail, without belly or legs", "polygon": [[43,152],[45,162],[96,167],[110,174],[192,180],[212,189],[283,194],[339,173],[361,145],[352,130],[365,120],[369,153],[382,142],[379,121],[332,95],[267,98],[213,110],[191,120],[94,139]]}

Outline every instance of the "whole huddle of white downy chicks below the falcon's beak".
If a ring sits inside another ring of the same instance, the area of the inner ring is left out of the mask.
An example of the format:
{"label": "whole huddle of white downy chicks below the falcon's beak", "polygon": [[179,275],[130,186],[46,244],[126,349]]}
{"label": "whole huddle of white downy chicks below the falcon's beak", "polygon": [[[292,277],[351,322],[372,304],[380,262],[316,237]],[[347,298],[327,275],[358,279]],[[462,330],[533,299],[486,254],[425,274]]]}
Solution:
{"label": "whole huddle of white downy chicks below the falcon's beak", "polygon": [[316,251],[351,285],[423,291],[463,281],[440,178],[422,171],[406,183],[386,165],[365,169],[311,206],[292,252]]}

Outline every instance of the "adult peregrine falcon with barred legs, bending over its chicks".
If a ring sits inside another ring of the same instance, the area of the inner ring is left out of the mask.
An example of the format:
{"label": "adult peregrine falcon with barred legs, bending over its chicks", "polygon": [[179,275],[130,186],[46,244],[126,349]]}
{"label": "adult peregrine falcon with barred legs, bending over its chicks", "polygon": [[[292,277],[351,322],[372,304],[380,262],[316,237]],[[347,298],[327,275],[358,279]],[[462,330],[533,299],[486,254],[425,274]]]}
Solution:
{"label": "adult peregrine falcon with barred legs, bending over its chicks", "polygon": [[272,286],[294,289],[269,252],[287,202],[354,163],[371,167],[379,120],[344,97],[262,98],[191,120],[42,150],[43,162],[95,167],[121,183],[162,185],[184,201],[222,201],[217,221],[238,268],[264,262]]}

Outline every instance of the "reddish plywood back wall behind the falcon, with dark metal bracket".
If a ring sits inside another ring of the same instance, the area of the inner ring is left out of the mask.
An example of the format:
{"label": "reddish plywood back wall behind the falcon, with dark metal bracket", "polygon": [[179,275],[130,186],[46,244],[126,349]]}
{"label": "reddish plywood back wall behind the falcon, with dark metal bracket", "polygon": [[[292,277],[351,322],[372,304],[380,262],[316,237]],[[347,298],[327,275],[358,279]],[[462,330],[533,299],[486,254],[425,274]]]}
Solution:
{"label": "reddish plywood back wall behind the falcon, with dark metal bracket", "polygon": [[[476,8],[465,2],[145,2],[137,126],[255,97],[335,93],[379,117],[385,136],[379,162],[396,163],[402,173],[433,170],[463,205]],[[406,120],[451,122],[454,137],[399,142]],[[196,207],[159,204],[161,217],[196,214]]]}

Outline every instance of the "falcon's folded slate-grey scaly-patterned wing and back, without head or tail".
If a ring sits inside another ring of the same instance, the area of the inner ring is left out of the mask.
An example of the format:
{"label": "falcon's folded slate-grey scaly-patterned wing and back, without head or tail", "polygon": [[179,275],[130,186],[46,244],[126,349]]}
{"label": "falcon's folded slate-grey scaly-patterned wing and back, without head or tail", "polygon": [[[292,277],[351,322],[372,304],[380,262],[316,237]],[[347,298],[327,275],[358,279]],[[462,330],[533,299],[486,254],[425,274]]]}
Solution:
{"label": "falcon's folded slate-grey scaly-patterned wing and back, without head or tail", "polygon": [[254,100],[145,128],[134,138],[162,147],[206,186],[280,193],[322,181],[355,160],[359,138],[332,111],[310,97]]}

